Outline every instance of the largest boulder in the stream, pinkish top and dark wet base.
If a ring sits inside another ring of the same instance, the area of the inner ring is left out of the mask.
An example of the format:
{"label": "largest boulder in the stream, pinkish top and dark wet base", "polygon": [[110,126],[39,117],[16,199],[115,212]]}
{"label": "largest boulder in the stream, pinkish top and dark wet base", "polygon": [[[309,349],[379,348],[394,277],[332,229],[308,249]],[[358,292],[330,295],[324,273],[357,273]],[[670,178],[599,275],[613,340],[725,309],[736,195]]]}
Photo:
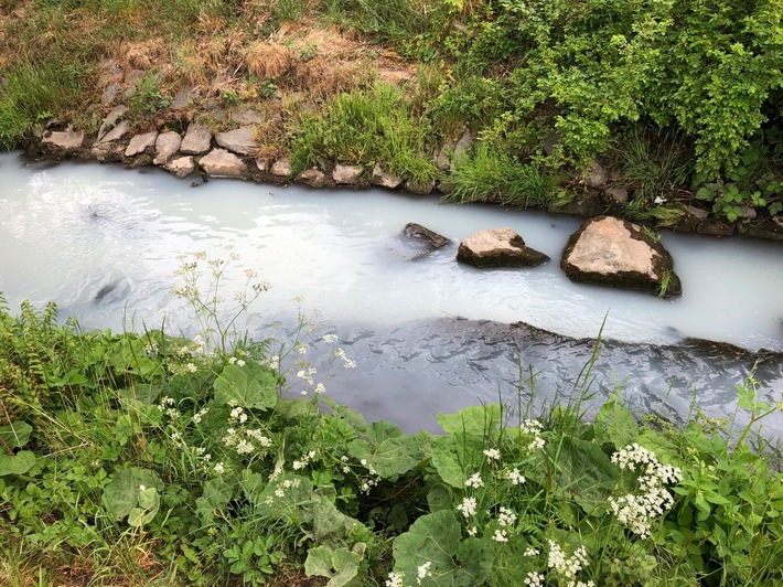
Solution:
{"label": "largest boulder in the stream, pinkish top and dark wet base", "polygon": [[672,256],[642,227],[613,216],[582,223],[566,245],[560,267],[572,281],[679,296]]}

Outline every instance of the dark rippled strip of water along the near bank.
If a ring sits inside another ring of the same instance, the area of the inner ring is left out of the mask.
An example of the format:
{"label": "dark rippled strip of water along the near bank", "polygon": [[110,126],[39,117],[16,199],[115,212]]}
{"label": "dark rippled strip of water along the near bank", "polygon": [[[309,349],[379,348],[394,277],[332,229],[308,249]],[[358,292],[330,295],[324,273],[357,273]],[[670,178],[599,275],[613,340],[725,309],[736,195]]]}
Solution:
{"label": "dark rippled strip of water along the near bank", "polygon": [[[438,413],[469,405],[503,401],[516,406],[521,395],[524,406],[533,388],[538,407],[568,401],[597,344],[522,322],[459,318],[388,329],[343,325],[337,334],[358,367],[332,369],[328,393],[368,420],[389,419],[409,433],[438,430]],[[635,414],[658,414],[678,423],[694,408],[709,417],[730,417],[736,385],[754,365],[754,377],[762,383],[760,398],[776,401],[783,391],[783,353],[752,353],[698,339],[665,345],[602,340],[590,392],[600,402],[620,391]],[[318,366],[320,372],[326,369]],[[783,437],[783,418],[773,418],[777,419],[768,420],[765,429]],[[738,416],[738,424],[743,421]]]}

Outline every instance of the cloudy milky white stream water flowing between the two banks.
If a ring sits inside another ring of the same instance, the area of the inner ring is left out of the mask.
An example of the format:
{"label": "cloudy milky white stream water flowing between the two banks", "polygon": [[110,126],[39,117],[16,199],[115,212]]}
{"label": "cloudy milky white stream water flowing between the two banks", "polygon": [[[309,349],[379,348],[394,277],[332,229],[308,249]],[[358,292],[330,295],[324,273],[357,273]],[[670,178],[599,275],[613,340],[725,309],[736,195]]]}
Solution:
{"label": "cloudy milky white stream water flowing between the two banks", "polygon": [[[684,375],[684,387],[704,380],[710,389],[698,393],[719,409],[730,409],[733,383],[747,365],[718,377],[710,370],[722,367],[700,356],[698,369],[706,370],[700,378],[687,353],[667,362],[665,353],[654,356],[652,345],[699,338],[783,351],[779,243],[664,234],[685,294],[661,300],[569,281],[559,257],[579,225],[572,217],[438,205],[433,198],[376,190],[221,180],[192,186],[157,170],[25,167],[13,153],[0,154],[0,291],[11,308],[23,299],[39,306],[54,300],[62,313],[79,317],[86,327],[115,329],[124,316],[151,328],[169,314],[169,328],[189,331],[170,294],[178,254],[225,257],[234,252],[239,260],[230,275],[236,278],[225,296],[240,288],[245,268],[257,269],[271,285],[248,328],[291,316],[292,298],[303,296],[305,308],[318,308],[322,321],[366,360],[363,369],[339,380],[372,388],[353,403],[374,415],[396,416],[407,428],[429,425],[438,409],[492,401],[501,384],[514,384],[519,346],[508,345],[506,334],[489,340],[481,332],[455,332],[452,327],[460,322],[447,319],[457,317],[522,321],[569,338],[594,338],[605,318],[604,338],[637,349],[603,367],[607,385],[624,382],[632,394],[662,398],[671,396],[672,380]],[[447,236],[452,245],[420,255],[399,237],[408,222]],[[461,239],[500,226],[511,226],[553,260],[534,269],[489,270],[454,260]],[[522,359],[529,355],[537,370],[548,367],[555,385],[558,377],[573,378],[589,356],[564,359],[569,344],[558,343],[555,353],[554,348],[533,351],[540,346],[534,342]],[[639,372],[645,375],[636,383]],[[422,388],[429,389],[426,397]],[[687,408],[685,398],[694,391],[679,389],[679,404]]]}

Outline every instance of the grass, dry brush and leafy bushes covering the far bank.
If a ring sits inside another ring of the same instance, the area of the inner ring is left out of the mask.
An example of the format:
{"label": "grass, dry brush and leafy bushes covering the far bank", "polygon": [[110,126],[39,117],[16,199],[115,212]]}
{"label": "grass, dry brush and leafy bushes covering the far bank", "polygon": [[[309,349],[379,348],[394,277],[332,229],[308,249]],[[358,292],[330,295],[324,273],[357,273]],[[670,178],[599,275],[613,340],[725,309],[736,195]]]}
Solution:
{"label": "grass, dry brush and leafy bushes covering the far bank", "polygon": [[[258,156],[294,172],[380,162],[443,180],[452,201],[540,206],[593,190],[580,173],[598,163],[635,220],[696,207],[752,223],[783,211],[782,13],[779,0],[3,0],[0,143],[46,124],[95,132],[119,100],[139,130],[251,109]],[[447,178],[435,157],[465,130]]]}

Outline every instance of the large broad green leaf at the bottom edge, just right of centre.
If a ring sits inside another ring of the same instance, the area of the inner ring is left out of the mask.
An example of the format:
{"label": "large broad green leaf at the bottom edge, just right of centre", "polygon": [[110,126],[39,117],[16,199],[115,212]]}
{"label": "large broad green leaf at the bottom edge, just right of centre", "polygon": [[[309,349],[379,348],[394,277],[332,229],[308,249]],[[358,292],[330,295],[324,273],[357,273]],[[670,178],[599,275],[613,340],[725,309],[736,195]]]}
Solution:
{"label": "large broad green leaf at the bottom edge, just right of centre", "polygon": [[419,517],[394,541],[395,573],[417,577],[430,563],[422,585],[472,587],[490,576],[494,557],[483,538],[462,541],[462,526],[451,510]]}

